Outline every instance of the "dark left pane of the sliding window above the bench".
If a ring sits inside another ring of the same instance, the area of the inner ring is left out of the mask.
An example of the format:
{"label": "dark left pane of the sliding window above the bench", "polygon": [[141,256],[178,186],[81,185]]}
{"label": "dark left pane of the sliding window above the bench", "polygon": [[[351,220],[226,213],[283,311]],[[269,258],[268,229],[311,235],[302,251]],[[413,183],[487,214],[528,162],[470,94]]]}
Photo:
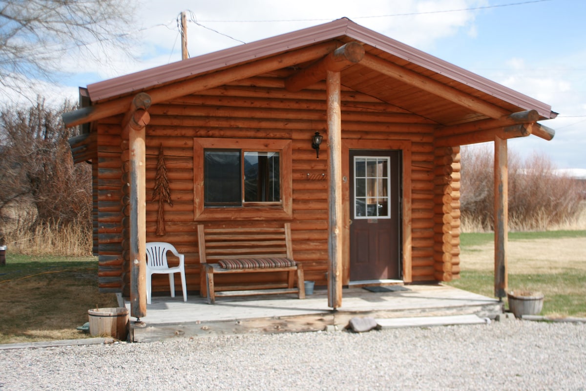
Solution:
{"label": "dark left pane of the sliding window above the bench", "polygon": [[242,204],[239,150],[206,150],[203,176],[205,206]]}

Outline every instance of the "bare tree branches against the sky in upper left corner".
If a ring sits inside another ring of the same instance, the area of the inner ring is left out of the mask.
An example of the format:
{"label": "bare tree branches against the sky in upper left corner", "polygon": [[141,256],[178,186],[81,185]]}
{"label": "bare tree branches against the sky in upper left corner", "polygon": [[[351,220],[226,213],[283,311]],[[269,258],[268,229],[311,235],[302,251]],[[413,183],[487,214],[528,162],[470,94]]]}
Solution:
{"label": "bare tree branches against the sky in upper left corner", "polygon": [[22,91],[26,81],[50,81],[66,54],[108,59],[111,47],[127,47],[134,7],[132,0],[0,1],[0,84]]}

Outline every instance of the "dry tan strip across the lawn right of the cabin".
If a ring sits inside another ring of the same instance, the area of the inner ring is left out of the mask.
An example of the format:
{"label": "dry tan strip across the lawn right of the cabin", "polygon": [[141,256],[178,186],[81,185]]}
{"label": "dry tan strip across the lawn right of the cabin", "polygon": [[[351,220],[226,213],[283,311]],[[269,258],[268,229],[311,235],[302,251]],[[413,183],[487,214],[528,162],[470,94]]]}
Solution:
{"label": "dry tan strip across the lawn right of the cabin", "polygon": [[[463,249],[462,270],[494,270],[495,245],[487,243]],[[586,239],[539,239],[509,241],[509,273],[557,273],[567,269],[586,270]]]}

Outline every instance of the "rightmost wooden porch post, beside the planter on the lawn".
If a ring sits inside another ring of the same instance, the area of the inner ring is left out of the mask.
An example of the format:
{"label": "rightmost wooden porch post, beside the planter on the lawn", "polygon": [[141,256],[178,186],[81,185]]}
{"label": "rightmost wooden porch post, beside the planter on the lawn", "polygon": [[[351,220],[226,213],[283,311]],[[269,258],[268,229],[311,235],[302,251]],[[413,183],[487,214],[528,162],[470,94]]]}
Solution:
{"label": "rightmost wooden porch post, beside the planter on the lawn", "polygon": [[495,297],[505,297],[508,285],[509,178],[507,140],[495,138]]}

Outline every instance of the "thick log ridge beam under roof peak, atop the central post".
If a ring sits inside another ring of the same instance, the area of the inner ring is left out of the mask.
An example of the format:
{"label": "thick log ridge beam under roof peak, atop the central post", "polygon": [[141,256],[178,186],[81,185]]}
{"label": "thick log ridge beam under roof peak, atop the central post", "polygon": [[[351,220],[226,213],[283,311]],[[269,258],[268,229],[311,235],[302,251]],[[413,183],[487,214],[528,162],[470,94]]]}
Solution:
{"label": "thick log ridge beam under roof peak, atop the central post", "polygon": [[289,76],[285,79],[285,89],[291,92],[301,91],[305,87],[325,79],[326,71],[343,71],[359,63],[363,57],[364,47],[357,42],[348,42],[323,59]]}

